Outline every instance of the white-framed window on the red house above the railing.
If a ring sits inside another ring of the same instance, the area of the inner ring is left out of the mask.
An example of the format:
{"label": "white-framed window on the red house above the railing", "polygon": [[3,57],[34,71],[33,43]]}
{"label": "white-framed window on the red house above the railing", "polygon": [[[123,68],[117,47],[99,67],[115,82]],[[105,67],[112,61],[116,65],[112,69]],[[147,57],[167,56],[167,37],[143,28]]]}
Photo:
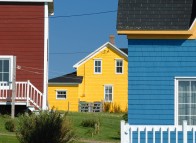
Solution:
{"label": "white-framed window on the red house above the railing", "polygon": [[0,56],[0,86],[6,87],[12,79],[12,56]]}

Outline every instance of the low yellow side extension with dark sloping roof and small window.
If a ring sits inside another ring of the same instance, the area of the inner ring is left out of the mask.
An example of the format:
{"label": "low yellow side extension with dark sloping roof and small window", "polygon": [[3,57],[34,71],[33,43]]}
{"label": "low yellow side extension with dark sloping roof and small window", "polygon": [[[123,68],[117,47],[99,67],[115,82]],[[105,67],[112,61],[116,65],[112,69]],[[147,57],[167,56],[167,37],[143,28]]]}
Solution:
{"label": "low yellow side extension with dark sloping roof and small window", "polygon": [[82,77],[76,72],[50,79],[48,82],[49,108],[78,111],[78,85]]}

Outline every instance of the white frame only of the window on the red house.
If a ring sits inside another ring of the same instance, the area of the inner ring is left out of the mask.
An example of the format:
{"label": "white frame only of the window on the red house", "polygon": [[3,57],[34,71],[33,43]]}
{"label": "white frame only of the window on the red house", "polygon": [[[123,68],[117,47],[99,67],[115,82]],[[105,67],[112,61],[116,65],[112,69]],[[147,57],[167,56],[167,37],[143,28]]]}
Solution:
{"label": "white frame only of the window on the red house", "polygon": [[0,55],[0,60],[9,60],[9,83],[0,81],[1,89],[11,89],[11,83],[13,79],[13,56],[10,55]]}

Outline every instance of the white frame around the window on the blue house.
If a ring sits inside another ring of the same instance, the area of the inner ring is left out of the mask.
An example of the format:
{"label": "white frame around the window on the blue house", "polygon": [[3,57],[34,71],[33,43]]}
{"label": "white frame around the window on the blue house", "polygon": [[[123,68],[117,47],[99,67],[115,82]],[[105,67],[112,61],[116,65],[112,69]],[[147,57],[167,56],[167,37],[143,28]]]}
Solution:
{"label": "white frame around the window on the blue house", "polygon": [[174,80],[174,124],[176,126],[181,126],[178,123],[178,82],[179,81],[196,81],[196,77],[175,77]]}

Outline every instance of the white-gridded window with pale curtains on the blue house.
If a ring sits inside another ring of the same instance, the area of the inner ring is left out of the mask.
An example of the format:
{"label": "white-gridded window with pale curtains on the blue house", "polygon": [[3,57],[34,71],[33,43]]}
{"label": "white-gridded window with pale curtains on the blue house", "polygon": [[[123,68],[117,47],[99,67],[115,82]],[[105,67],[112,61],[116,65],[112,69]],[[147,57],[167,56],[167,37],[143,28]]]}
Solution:
{"label": "white-gridded window with pale curtains on the blue house", "polygon": [[196,125],[196,79],[178,79],[177,82],[177,123]]}

